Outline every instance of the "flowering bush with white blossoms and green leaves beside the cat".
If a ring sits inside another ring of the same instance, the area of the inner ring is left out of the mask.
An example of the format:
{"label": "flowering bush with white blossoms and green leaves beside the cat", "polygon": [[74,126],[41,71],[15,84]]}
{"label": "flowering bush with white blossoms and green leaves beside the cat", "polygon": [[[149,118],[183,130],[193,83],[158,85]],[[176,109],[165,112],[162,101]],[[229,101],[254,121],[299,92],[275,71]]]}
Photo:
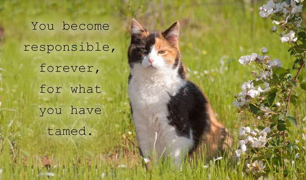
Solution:
{"label": "flowering bush with white blossoms and green leaves beside the cat", "polygon": [[290,168],[287,164],[293,166],[298,156],[296,142],[290,142],[287,137],[291,133],[289,127],[297,125],[296,118],[289,114],[289,105],[295,105],[298,99],[294,88],[306,90],[306,83],[299,75],[306,58],[306,33],[299,16],[303,5],[303,0],[291,0],[290,4],[271,0],[259,8],[261,17],[270,18],[278,25],[281,33],[277,33],[275,25],[272,32],[280,36],[280,42],[289,43],[288,52],[296,58],[292,69],[297,71],[282,67],[281,60],[271,59],[266,47],[261,55],[253,53],[239,59],[241,64],[254,67],[251,72],[254,79],[241,86],[242,91],[234,95],[233,104],[241,114],[250,112],[261,125],[254,125],[253,130],[240,128],[236,158],[248,159],[250,164],[245,165],[245,171],[256,177],[275,171],[278,165],[283,165],[286,175]]}

